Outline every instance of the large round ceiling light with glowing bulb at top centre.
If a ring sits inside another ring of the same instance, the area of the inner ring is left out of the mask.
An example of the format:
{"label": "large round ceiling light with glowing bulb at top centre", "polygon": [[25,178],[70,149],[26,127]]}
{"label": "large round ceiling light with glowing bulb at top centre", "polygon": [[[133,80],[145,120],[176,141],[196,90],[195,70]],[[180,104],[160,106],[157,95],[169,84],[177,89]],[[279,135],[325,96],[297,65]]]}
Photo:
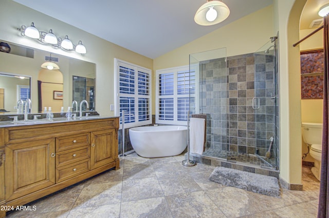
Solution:
{"label": "large round ceiling light with glowing bulb at top centre", "polygon": [[195,13],[195,23],[210,26],[223,22],[230,15],[230,9],[222,1],[207,0]]}

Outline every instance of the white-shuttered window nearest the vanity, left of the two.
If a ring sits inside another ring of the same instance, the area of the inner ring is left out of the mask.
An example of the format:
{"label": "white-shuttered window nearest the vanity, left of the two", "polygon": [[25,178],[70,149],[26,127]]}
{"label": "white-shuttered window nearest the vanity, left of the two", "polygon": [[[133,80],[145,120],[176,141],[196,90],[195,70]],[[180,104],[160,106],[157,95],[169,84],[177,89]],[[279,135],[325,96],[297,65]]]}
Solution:
{"label": "white-shuttered window nearest the vanity, left of the two", "polygon": [[151,124],[151,70],[117,59],[115,66],[119,93],[116,114],[122,117],[124,111],[126,127]]}

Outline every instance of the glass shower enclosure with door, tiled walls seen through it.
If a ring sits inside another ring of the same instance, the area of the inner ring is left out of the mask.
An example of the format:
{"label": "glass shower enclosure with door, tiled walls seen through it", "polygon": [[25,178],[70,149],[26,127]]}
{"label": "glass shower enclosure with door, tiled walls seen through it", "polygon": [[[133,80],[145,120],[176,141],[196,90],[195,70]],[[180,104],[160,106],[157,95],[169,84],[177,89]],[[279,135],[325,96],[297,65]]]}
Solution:
{"label": "glass shower enclosure with door, tiled walls seen through it", "polygon": [[221,48],[190,55],[190,111],[206,114],[202,156],[279,169],[277,45],[272,37],[254,53],[227,57]]}

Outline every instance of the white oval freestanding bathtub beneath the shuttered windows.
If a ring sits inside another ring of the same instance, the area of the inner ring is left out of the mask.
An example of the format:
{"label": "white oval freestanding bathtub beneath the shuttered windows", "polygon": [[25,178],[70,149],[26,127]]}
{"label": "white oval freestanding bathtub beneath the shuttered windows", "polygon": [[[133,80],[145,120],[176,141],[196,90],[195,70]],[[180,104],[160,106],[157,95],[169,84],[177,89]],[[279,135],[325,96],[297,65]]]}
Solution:
{"label": "white oval freestanding bathtub beneath the shuttered windows", "polygon": [[187,147],[186,126],[142,126],[129,129],[136,153],[143,157],[175,156]]}

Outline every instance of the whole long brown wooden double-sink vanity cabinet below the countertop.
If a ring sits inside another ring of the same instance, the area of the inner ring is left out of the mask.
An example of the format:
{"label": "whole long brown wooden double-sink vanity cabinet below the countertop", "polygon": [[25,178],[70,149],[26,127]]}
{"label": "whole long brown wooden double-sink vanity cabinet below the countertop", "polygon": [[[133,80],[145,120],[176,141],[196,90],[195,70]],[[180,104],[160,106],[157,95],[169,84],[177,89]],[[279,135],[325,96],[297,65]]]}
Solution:
{"label": "whole long brown wooden double-sink vanity cabinet below the countertop", "polygon": [[0,206],[22,206],[119,169],[118,128],[118,117],[0,128]]}

